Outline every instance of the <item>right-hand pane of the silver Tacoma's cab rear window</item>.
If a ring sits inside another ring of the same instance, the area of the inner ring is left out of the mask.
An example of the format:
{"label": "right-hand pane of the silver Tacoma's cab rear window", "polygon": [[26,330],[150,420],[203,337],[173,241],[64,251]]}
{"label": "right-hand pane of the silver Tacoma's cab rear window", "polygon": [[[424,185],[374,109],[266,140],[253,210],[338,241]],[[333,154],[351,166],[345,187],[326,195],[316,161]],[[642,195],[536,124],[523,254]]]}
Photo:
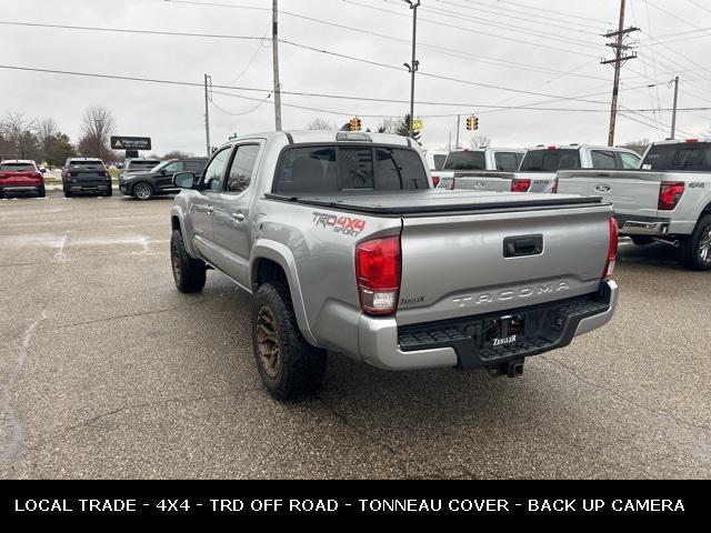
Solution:
{"label": "right-hand pane of the silver Tacoma's cab rear window", "polygon": [[375,148],[375,189],[400,191],[428,188],[424,165],[417,152],[397,148]]}

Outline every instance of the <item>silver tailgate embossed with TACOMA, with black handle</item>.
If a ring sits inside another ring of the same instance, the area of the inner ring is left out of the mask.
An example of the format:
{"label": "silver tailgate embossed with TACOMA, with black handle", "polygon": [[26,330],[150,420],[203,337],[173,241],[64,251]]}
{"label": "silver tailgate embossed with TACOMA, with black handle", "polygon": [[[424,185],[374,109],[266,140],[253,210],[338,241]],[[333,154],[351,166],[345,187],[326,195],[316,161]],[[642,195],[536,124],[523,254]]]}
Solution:
{"label": "silver tailgate embossed with TACOMA, with black handle", "polygon": [[609,204],[545,207],[549,194],[505,197],[541,203],[533,210],[513,203],[481,213],[403,217],[399,324],[512,310],[599,289]]}

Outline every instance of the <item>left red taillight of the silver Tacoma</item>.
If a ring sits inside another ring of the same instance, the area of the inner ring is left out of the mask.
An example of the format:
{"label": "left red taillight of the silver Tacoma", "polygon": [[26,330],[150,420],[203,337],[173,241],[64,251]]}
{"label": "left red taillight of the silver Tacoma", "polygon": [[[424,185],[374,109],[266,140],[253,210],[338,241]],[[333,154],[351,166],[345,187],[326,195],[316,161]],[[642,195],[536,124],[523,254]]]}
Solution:
{"label": "left red taillight of the silver Tacoma", "polygon": [[400,238],[387,237],[356,247],[360,308],[367,314],[393,314],[400,294]]}

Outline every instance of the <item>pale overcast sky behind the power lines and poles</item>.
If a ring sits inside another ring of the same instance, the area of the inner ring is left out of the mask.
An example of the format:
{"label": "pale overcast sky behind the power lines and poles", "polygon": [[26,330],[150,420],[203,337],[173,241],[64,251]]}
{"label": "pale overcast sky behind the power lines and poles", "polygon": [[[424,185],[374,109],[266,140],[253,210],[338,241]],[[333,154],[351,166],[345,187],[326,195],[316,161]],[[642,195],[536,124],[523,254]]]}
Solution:
{"label": "pale overcast sky behind the power lines and poles", "polygon": [[[0,0],[0,20],[259,38],[270,34],[271,14],[263,8],[270,8],[271,0],[194,2],[228,7],[164,0]],[[410,77],[402,63],[410,61],[412,28],[411,11],[404,1],[280,0],[279,4],[284,11],[280,17],[282,39],[401,69],[282,43],[282,90],[409,100]],[[613,69],[600,64],[600,59],[612,57],[612,50],[600,33],[617,27],[619,8],[618,0],[422,0],[418,10],[421,46],[417,54],[421,72],[495,86],[419,76],[415,100],[458,104],[415,104],[415,115],[422,117],[424,123],[423,144],[445,148],[450,134],[452,140],[455,135],[458,113],[478,114],[478,133],[490,137],[494,145],[607,143]],[[711,0],[628,0],[625,26],[629,24],[642,31],[630,41],[638,46],[639,58],[623,67],[621,104],[631,110],[671,108],[673,90],[668,88],[668,81],[678,74],[680,108],[711,107]],[[220,89],[259,100],[268,97],[272,84],[268,40],[0,24],[0,64],[194,83],[202,83],[203,74],[209,73],[214,84],[266,90]],[[648,88],[651,83],[657,86]],[[303,129],[316,118],[340,125],[351,114],[361,115],[363,125],[374,129],[382,119],[368,115],[401,117],[409,108],[408,103],[287,94],[282,102],[323,110],[284,107],[284,129]],[[231,133],[272,130],[272,98],[254,109],[258,103],[213,94],[212,144],[220,144]],[[96,104],[111,110],[118,123],[116,133],[151,137],[156,153],[174,149],[204,152],[201,87],[0,69],[2,115],[23,112],[28,118],[52,117],[62,131],[77,140],[82,111]],[[565,111],[485,108],[531,104]],[[617,143],[668,137],[670,112],[623,112],[628,117],[618,119]],[[234,115],[239,113],[246,114]],[[463,125],[462,117],[461,142],[467,142],[471,132]],[[711,111],[680,111],[677,127],[679,137],[708,135]]]}

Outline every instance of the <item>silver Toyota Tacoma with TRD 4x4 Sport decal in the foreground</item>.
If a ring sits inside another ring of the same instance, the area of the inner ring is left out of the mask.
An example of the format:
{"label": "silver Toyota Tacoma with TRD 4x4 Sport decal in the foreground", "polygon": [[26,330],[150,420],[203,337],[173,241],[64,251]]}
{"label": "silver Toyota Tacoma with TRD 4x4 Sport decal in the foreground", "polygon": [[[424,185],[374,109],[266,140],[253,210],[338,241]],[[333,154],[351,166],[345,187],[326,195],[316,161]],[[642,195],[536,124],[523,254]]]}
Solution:
{"label": "silver Toyota Tacoma with TRD 4x4 Sport decal in the foreground", "polygon": [[615,309],[608,203],[438,191],[408,138],[244,135],[173,179],[176,285],[214,269],[253,295],[254,359],[282,401],[318,388],[328,351],[513,376]]}

